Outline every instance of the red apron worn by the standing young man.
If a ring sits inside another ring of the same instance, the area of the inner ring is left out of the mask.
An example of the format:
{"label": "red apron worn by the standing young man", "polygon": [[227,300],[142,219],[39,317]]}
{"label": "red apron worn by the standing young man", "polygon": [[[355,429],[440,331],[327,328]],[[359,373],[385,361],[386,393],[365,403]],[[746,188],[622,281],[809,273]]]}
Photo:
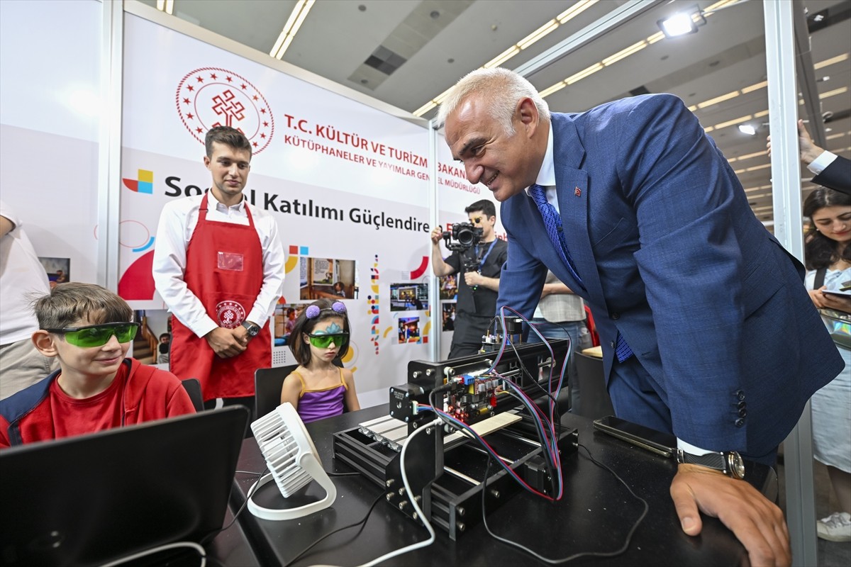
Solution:
{"label": "red apron worn by the standing young man", "polygon": [[[248,317],[263,286],[263,248],[245,204],[248,225],[207,220],[207,195],[186,247],[184,281],[219,326],[234,329]],[[172,321],[170,370],[181,380],[197,378],[204,400],[254,395],[254,371],[271,366],[268,320],[248,349],[229,359],[216,356],[207,339],[197,337],[177,317]]]}

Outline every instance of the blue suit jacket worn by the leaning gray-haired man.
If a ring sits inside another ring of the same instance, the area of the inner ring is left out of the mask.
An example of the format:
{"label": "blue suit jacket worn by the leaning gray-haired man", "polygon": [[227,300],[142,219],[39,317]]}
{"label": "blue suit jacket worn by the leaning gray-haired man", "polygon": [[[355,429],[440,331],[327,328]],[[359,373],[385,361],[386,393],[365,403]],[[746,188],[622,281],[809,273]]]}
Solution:
{"label": "blue suit jacket worn by the leaning gray-haired man", "polygon": [[802,265],[754,217],[727,160],[677,97],[554,113],[551,128],[559,209],[582,282],[521,192],[501,207],[509,255],[498,308],[532,315],[551,269],[591,306],[607,380],[620,332],[677,437],[717,451],[771,451],[842,370]]}

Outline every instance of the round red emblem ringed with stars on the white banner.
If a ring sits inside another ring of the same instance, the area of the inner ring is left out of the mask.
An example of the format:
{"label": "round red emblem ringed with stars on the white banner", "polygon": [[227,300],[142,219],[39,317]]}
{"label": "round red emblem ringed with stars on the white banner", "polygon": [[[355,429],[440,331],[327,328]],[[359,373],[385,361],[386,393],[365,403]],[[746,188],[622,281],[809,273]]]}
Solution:
{"label": "round red emblem ringed with stars on the white banner", "polygon": [[175,104],[183,125],[202,144],[210,128],[230,126],[245,134],[256,156],[275,132],[263,94],[245,77],[220,67],[187,73],[177,86]]}

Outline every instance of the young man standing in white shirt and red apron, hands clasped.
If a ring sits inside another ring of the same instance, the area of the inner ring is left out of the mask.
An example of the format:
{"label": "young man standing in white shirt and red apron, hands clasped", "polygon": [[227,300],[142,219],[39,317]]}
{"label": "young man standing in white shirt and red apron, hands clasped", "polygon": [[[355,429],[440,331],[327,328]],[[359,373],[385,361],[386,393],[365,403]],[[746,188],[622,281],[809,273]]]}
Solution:
{"label": "young man standing in white shirt and red apron, hands clasped", "polygon": [[169,202],[157,229],[153,274],[174,314],[170,370],[201,382],[205,405],[254,406],[254,371],[271,366],[267,325],[283,285],[277,222],[248,205],[251,145],[234,128],[207,133],[203,196]]}

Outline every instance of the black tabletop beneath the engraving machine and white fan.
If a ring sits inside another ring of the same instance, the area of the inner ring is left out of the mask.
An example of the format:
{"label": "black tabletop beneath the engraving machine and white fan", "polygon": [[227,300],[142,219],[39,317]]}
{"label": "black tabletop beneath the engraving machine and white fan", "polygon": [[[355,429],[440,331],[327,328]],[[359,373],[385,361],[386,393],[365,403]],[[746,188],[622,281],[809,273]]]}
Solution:
{"label": "black tabletop beneath the engraving machine and white fan", "polygon": [[[343,414],[307,425],[323,466],[328,472],[352,472],[346,463],[336,462],[332,434],[356,427],[374,417],[387,415],[380,405]],[[700,536],[686,536],[680,528],[669,487],[677,472],[672,459],[655,456],[620,439],[594,431],[585,417],[563,417],[563,424],[579,430],[580,445],[587,447],[647,501],[649,510],[638,525],[624,553],[611,556],[582,556],[568,564],[595,565],[735,565],[745,558],[745,549],[720,521],[703,520]],[[745,478],[769,494],[776,490],[771,468],[746,463]],[[266,464],[254,439],[243,442],[237,469],[264,470]],[[564,494],[559,502],[547,502],[525,490],[494,511],[488,510],[488,525],[496,534],[517,541],[546,558],[566,558],[575,553],[614,553],[625,545],[632,524],[641,516],[639,502],[608,470],[598,467],[581,446],[562,459]],[[231,490],[231,507],[238,509],[256,477],[237,474]],[[336,501],[321,512],[300,519],[272,521],[254,517],[248,509],[239,523],[248,536],[261,565],[290,564],[300,552],[329,531],[353,524],[366,515],[385,490],[362,476],[333,476]],[[306,502],[324,495],[314,482],[306,489]],[[300,496],[300,495],[299,495]],[[255,502],[261,506],[290,507],[274,483],[260,489]],[[294,565],[359,565],[428,538],[426,529],[412,519],[379,502],[363,530],[344,530],[326,538]],[[429,547],[391,558],[387,565],[531,565],[545,564],[533,556],[508,547],[489,536],[479,522],[451,541],[446,532],[435,529],[437,539]],[[235,565],[235,563],[229,563]]]}

